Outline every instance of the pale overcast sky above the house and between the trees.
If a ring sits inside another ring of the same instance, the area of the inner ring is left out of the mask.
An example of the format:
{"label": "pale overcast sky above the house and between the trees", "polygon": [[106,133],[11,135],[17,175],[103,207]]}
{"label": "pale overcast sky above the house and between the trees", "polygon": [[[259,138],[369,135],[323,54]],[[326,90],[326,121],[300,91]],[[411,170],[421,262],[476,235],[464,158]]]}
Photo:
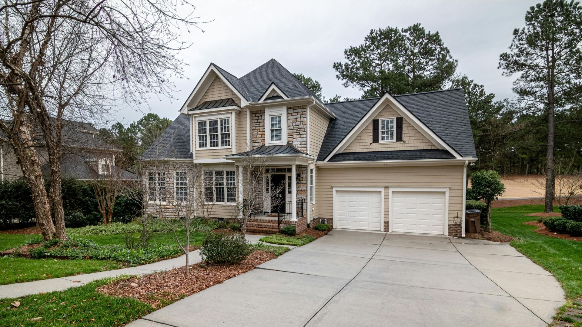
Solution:
{"label": "pale overcast sky above the house and between the trees", "polygon": [[[210,62],[237,77],[275,58],[292,73],[320,81],[326,98],[360,97],[335,77],[333,62],[345,62],[343,50],[359,45],[371,29],[407,27],[414,23],[438,31],[457,71],[483,84],[497,99],[513,97],[512,78],[497,69],[512,31],[536,1],[324,1],[251,2],[194,1],[205,31],[184,35],[193,46],[180,54],[186,79],[176,80],[176,99],[151,99],[151,112],[175,119],[178,109]],[[130,123],[148,109],[121,109],[118,120]]]}

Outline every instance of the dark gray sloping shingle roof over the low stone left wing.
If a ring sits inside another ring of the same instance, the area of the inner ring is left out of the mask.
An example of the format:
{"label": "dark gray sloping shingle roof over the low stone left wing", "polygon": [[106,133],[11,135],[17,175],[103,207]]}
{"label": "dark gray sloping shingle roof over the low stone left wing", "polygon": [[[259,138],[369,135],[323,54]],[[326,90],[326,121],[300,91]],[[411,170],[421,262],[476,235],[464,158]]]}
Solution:
{"label": "dark gray sloping shingle roof over the low stone left wing", "polygon": [[189,116],[178,115],[140,157],[140,160],[153,159],[192,159]]}

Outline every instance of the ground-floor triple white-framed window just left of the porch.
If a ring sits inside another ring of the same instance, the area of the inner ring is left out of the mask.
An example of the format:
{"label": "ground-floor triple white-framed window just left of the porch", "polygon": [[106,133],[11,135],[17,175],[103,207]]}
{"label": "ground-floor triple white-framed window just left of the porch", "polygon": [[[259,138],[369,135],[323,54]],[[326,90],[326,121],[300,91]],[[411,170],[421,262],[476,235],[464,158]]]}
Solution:
{"label": "ground-floor triple white-framed window just left of the porch", "polygon": [[213,203],[234,204],[236,202],[236,171],[205,171],[204,200]]}

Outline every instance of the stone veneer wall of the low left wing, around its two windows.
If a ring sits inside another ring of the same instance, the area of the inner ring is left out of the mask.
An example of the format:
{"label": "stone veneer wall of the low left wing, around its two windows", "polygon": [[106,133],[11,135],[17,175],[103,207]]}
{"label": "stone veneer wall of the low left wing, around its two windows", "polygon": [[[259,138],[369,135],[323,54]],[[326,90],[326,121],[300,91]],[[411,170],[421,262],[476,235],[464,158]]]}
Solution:
{"label": "stone veneer wall of the low left wing, around its two windows", "polygon": [[[144,214],[160,218],[179,218],[184,215],[193,214],[192,207],[185,204],[175,204],[174,181],[175,172],[186,171],[188,176],[188,196],[194,196],[194,166],[183,163],[163,163],[155,166],[146,166],[141,173],[143,183],[148,182],[148,172],[165,172],[166,180],[166,201],[165,202],[148,202],[147,195],[144,196]],[[147,189],[147,184],[144,185]],[[193,202],[193,201],[191,201]],[[179,212],[180,211],[180,212]]]}

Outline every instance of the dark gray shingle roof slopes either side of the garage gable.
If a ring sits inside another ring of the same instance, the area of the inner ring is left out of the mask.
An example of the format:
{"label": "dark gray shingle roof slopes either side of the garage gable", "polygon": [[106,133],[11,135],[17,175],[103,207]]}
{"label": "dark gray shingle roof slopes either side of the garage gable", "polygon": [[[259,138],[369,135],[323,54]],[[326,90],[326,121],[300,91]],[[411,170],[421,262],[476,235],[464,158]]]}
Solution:
{"label": "dark gray shingle roof slopes either side of the garage gable", "polygon": [[[477,157],[462,88],[395,95],[395,98],[464,157]],[[330,120],[318,155],[322,161],[357,125],[379,98],[331,102],[326,106],[338,118]]]}

